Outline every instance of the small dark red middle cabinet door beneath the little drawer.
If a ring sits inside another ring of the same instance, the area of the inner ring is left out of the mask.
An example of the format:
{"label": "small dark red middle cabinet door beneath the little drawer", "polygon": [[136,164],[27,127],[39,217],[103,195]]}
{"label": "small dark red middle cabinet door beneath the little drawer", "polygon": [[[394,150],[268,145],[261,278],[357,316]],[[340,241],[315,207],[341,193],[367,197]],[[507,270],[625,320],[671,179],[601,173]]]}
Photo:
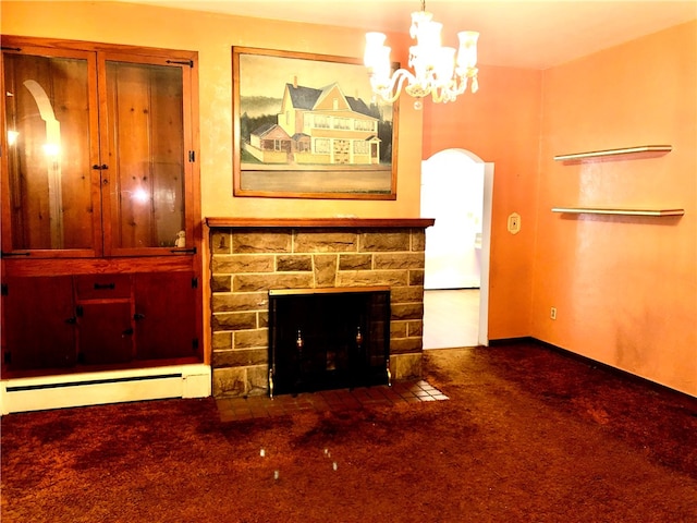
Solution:
{"label": "small dark red middle cabinet door beneath the little drawer", "polygon": [[80,305],[80,363],[108,365],[133,360],[131,315],[130,300]]}

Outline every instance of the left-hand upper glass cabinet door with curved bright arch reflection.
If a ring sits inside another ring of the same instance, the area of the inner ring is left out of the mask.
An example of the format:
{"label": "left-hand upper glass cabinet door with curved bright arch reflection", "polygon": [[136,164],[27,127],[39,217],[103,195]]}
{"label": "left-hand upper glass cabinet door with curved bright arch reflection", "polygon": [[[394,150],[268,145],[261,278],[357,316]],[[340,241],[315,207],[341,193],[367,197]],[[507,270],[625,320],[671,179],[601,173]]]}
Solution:
{"label": "left-hand upper glass cabinet door with curved bright arch reflection", "polygon": [[3,254],[99,254],[100,180],[90,161],[98,154],[94,57],[3,49],[2,62]]}

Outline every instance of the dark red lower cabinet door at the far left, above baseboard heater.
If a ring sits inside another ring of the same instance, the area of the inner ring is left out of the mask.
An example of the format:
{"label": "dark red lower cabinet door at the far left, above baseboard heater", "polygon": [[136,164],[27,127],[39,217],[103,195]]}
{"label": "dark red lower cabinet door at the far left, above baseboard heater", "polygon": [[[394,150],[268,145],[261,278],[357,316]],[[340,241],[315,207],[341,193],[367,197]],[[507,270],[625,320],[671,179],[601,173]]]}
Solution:
{"label": "dark red lower cabinet door at the far left, above baseboard heater", "polygon": [[2,297],[9,370],[75,365],[75,309],[70,276],[11,277]]}

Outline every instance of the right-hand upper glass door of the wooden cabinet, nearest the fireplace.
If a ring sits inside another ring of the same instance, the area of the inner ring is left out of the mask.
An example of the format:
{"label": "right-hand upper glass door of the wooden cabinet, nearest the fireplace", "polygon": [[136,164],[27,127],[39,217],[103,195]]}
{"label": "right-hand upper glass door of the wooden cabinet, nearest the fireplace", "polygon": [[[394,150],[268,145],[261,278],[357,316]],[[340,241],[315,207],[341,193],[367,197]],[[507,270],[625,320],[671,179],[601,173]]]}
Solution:
{"label": "right-hand upper glass door of the wooden cabinet, nearest the fireplace", "polygon": [[102,158],[108,158],[110,180],[109,187],[102,186],[109,191],[105,250],[119,255],[185,247],[191,243],[184,202],[188,66],[112,58],[106,57],[102,69],[102,151],[108,148]]}

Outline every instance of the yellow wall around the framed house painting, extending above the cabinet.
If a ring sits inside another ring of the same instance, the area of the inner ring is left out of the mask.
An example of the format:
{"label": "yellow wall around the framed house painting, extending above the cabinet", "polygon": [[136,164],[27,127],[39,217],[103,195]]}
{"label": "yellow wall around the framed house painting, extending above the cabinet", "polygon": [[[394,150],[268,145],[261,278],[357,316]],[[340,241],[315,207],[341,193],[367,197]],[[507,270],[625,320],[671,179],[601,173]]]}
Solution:
{"label": "yellow wall around the framed house painting, extending above the cabinet", "polygon": [[[206,216],[413,218],[419,215],[421,112],[400,111],[398,199],[232,196],[232,46],[363,58],[365,32],[111,2],[0,4],[4,34],[198,51],[201,209]],[[393,48],[403,35],[388,35]],[[404,48],[404,46],[402,46]],[[393,56],[406,61],[405,57]],[[368,76],[366,74],[366,83]]]}

